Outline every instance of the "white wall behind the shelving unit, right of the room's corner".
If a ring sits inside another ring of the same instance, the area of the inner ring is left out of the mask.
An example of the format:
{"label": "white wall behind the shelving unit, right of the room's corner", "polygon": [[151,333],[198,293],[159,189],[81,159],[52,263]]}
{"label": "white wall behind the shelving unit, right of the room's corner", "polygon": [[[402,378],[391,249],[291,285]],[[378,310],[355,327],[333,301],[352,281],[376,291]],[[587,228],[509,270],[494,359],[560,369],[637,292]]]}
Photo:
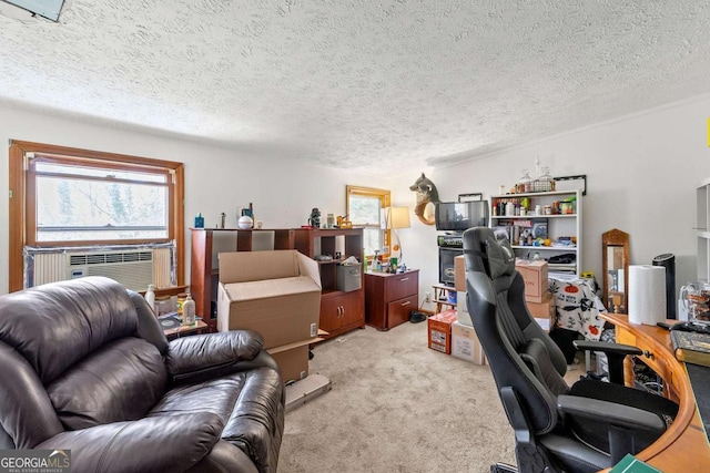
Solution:
{"label": "white wall behind the shelving unit, right of the room's corner", "polygon": [[[611,229],[630,234],[631,264],[651,264],[655,256],[676,255],[676,281],[696,280],[696,186],[710,176],[707,121],[710,96],[676,103],[621,120],[598,124],[495,153],[427,176],[443,200],[458,194],[498,194],[513,185],[523,168],[535,169],[535,157],[554,176],[587,175],[584,197],[584,270],[601,284],[601,234]],[[403,176],[395,199],[414,207],[410,184],[416,173]],[[405,182],[408,179],[409,182]],[[407,193],[409,195],[407,195]],[[420,290],[438,280],[437,233],[413,220],[400,230],[406,261],[422,268]]]}

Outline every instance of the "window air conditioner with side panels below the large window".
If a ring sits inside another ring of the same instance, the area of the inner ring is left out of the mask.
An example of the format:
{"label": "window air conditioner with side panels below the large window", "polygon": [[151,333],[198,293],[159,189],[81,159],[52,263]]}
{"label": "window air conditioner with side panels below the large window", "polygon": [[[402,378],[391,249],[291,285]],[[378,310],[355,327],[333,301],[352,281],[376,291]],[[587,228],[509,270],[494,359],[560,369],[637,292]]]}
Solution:
{"label": "window air conditioner with side panels below the large window", "polygon": [[130,248],[97,251],[37,253],[30,286],[45,282],[105,276],[128,289],[145,290],[174,286],[172,248]]}

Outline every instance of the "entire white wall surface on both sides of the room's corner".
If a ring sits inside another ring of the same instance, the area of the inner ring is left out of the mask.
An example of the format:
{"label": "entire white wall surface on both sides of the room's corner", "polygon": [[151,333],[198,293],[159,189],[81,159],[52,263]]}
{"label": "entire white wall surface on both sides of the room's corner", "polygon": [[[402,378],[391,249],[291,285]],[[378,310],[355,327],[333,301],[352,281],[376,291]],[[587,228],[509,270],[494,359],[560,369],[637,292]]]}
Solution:
{"label": "entire white wall surface on both sides of the room's corner", "polygon": [[[631,264],[650,264],[662,253],[677,259],[677,284],[696,279],[694,187],[710,176],[707,119],[710,96],[648,111],[574,133],[540,140],[485,158],[439,169],[403,169],[395,179],[304,166],[288,156],[253,157],[181,140],[133,133],[0,107],[0,142],[23,140],[185,163],[185,225],[199,212],[214,226],[221,212],[236,218],[254,203],[266,227],[300,226],[311,208],[344,214],[345,185],[390,188],[394,205],[414,209],[409,185],[422,172],[444,200],[458,194],[511,185],[535,157],[552,175],[587,175],[584,218],[585,270],[601,276],[601,234],[630,234]],[[8,147],[0,146],[0,192],[8,195]],[[227,225],[234,220],[227,220]],[[407,266],[420,269],[420,296],[438,280],[437,232],[412,215],[398,230]],[[190,238],[187,236],[187,249]],[[8,290],[8,206],[0,206],[0,294]],[[189,274],[189,268],[186,270]]]}

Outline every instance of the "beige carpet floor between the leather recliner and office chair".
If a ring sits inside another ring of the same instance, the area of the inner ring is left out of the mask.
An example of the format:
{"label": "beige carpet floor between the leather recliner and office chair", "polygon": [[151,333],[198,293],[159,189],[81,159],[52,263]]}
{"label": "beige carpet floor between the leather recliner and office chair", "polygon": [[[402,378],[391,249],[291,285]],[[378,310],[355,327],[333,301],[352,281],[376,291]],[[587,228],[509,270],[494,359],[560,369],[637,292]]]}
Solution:
{"label": "beige carpet floor between the leather recliner and office chair", "polygon": [[490,370],[427,348],[427,325],[322,342],[333,390],[286,414],[280,473],[488,472],[515,463]]}

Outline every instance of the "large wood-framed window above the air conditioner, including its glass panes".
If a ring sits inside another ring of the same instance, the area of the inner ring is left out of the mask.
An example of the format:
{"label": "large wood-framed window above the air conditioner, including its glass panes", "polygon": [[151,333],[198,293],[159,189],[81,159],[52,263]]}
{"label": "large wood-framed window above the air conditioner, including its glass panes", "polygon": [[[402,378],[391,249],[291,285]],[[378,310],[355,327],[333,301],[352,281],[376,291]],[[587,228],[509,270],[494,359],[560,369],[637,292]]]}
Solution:
{"label": "large wood-framed window above the air conditioner, including its glass panes", "polygon": [[182,163],[12,141],[10,290],[23,249],[175,241],[183,280]]}

